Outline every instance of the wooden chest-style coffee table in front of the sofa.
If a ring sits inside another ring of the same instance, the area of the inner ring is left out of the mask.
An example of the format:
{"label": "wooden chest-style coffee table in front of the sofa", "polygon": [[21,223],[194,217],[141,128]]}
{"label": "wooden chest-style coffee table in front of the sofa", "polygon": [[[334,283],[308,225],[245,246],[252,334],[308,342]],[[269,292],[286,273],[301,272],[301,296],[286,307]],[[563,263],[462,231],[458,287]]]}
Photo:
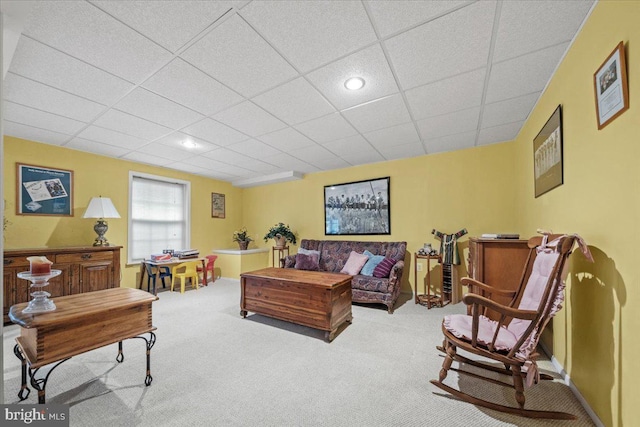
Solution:
{"label": "wooden chest-style coffee table in front of the sofa", "polygon": [[325,331],[351,323],[351,276],[293,268],[264,268],[240,275],[240,315],[248,311]]}

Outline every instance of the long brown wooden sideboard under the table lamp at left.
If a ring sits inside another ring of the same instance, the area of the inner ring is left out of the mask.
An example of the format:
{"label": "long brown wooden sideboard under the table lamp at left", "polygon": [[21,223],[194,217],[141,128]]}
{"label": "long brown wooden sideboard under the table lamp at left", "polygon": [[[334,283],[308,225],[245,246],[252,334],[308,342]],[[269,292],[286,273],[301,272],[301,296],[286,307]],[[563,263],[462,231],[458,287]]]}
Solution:
{"label": "long brown wooden sideboard under the table lamp at left", "polygon": [[46,256],[52,268],[62,273],[45,289],[51,297],[74,295],[120,286],[120,249],[122,246],[9,249],[4,252],[3,321],[9,322],[9,308],[30,299],[27,280],[18,279],[29,271],[29,256]]}

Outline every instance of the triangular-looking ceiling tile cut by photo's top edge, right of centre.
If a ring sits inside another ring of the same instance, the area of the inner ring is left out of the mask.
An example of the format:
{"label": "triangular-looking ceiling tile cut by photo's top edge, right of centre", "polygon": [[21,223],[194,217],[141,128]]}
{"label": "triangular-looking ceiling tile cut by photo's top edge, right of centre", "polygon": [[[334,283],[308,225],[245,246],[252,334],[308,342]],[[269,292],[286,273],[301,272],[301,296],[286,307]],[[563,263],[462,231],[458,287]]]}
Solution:
{"label": "triangular-looking ceiling tile cut by photo's top edge, right of centre", "polygon": [[430,21],[469,1],[367,1],[371,16],[382,37]]}

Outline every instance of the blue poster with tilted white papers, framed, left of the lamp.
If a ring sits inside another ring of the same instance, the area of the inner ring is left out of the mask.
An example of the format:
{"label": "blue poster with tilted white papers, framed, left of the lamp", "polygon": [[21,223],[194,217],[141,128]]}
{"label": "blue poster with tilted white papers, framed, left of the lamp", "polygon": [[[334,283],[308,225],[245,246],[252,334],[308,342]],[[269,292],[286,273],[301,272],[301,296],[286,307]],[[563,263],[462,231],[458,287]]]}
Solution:
{"label": "blue poster with tilted white papers, framed, left of the lamp", "polygon": [[73,171],[16,163],[16,215],[73,216]]}

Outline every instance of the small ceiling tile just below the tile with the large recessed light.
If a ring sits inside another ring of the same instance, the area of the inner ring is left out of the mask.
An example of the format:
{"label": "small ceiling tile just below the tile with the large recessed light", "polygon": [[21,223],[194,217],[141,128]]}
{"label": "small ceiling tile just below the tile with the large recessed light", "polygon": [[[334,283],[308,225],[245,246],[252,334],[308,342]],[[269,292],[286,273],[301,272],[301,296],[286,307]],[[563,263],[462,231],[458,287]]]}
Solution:
{"label": "small ceiling tile just below the tile with the large recessed light", "polygon": [[397,93],[344,110],[342,115],[360,132],[370,132],[411,121],[402,96]]}

